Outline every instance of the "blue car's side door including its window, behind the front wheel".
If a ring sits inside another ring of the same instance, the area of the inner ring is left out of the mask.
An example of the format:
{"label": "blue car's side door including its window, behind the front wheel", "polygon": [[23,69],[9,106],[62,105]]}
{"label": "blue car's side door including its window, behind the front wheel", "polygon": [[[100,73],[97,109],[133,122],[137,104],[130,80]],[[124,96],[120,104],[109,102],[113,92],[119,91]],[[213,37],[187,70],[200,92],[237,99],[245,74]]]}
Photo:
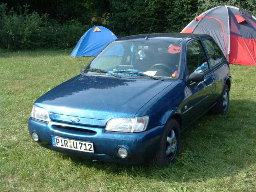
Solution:
{"label": "blue car's side door including its window, behind the front wheel", "polygon": [[214,102],[213,95],[216,90],[215,76],[209,66],[208,58],[200,39],[188,42],[185,67],[186,79],[193,72],[200,72],[205,76],[202,82],[186,83],[186,99],[184,100],[182,116],[184,126],[188,126],[210,108]]}

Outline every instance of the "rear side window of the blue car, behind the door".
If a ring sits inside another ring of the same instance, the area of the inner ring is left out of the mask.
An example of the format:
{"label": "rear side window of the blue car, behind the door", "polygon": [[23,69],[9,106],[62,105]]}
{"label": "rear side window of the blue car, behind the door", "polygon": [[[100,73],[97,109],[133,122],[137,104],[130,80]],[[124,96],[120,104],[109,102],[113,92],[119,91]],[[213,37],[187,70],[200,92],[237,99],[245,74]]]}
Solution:
{"label": "rear side window of the blue car, behind the door", "polygon": [[218,45],[212,39],[203,40],[206,50],[209,54],[211,66],[214,67],[220,62],[225,60],[225,56],[222,54]]}

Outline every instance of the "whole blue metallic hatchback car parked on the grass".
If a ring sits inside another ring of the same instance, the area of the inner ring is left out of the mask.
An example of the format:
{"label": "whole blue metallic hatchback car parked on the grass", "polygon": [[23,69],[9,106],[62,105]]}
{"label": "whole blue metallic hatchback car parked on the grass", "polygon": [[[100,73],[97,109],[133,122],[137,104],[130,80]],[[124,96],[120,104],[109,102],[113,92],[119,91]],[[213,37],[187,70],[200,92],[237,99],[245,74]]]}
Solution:
{"label": "whole blue metallic hatchback car parked on the grass", "polygon": [[145,36],[111,42],[78,76],[38,98],[32,139],[91,160],[172,163],[182,130],[209,110],[227,112],[230,68],[211,36]]}

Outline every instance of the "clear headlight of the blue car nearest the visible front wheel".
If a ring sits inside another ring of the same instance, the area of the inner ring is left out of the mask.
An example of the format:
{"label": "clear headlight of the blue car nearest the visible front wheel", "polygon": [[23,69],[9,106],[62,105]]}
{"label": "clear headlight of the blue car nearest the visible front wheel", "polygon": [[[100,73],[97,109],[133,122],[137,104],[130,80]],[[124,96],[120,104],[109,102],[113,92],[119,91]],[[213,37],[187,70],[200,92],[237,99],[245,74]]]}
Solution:
{"label": "clear headlight of the blue car nearest the visible front wheel", "polygon": [[106,125],[106,131],[142,132],[148,125],[148,116],[135,118],[113,118]]}

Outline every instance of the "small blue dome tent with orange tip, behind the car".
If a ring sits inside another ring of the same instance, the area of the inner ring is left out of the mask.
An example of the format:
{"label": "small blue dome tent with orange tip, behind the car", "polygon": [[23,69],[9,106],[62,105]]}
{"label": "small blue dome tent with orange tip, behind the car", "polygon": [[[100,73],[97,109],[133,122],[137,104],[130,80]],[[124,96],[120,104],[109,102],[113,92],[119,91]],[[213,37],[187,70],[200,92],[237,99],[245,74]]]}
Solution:
{"label": "small blue dome tent with orange tip, behind the car", "polygon": [[117,37],[107,28],[94,26],[86,31],[86,33],[80,38],[72,51],[71,56],[95,56],[108,43],[115,39],[117,39]]}

